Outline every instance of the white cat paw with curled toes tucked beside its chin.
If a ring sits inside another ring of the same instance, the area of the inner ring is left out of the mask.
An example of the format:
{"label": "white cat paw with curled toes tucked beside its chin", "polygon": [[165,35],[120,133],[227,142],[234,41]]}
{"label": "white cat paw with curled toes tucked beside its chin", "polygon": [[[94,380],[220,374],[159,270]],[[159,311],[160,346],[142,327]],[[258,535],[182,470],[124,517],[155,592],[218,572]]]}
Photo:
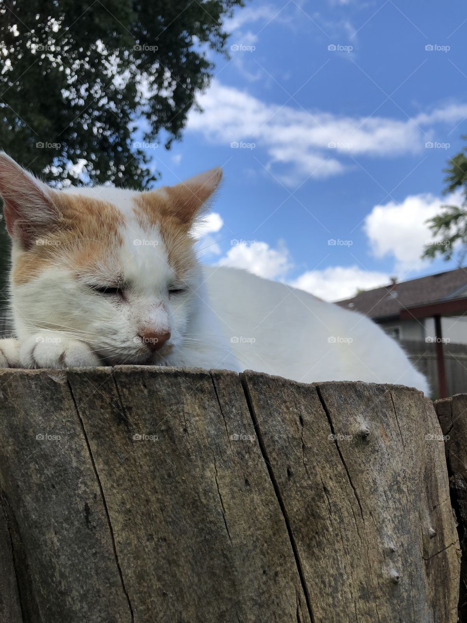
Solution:
{"label": "white cat paw with curled toes tucked beside its chin", "polygon": [[85,343],[51,331],[26,338],[21,343],[20,359],[24,368],[63,369],[101,365]]}

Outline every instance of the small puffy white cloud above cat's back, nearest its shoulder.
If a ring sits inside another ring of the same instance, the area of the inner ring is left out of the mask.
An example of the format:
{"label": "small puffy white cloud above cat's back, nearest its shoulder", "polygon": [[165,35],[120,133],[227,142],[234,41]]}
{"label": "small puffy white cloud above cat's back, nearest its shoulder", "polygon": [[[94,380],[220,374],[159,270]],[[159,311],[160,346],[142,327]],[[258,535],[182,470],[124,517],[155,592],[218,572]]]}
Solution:
{"label": "small puffy white cloud above cat's back, nearest its shoulder", "polygon": [[229,249],[219,265],[245,269],[267,279],[284,277],[292,267],[289,251],[281,240],[276,249],[267,242],[240,240]]}

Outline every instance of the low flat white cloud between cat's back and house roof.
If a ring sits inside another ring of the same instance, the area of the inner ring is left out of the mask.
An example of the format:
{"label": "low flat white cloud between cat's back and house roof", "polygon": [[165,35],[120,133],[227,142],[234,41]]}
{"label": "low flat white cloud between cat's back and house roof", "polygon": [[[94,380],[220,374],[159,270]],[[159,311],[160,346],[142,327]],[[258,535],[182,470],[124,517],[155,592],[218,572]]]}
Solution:
{"label": "low flat white cloud between cat's back and house roof", "polygon": [[358,266],[332,266],[324,270],[307,270],[290,285],[326,301],[338,301],[354,297],[359,289],[370,290],[389,282],[387,273],[363,270]]}

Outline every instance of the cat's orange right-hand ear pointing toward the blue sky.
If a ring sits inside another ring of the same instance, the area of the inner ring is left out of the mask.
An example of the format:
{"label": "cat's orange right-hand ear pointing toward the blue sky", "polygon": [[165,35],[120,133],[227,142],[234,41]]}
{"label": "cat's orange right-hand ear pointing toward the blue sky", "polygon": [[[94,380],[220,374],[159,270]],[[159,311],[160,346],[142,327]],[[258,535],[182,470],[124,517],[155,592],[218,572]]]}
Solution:
{"label": "cat's orange right-hand ear pointing toward the blue sky", "polygon": [[165,186],[171,212],[184,226],[191,227],[201,209],[209,204],[221,179],[222,169],[218,166],[175,186]]}

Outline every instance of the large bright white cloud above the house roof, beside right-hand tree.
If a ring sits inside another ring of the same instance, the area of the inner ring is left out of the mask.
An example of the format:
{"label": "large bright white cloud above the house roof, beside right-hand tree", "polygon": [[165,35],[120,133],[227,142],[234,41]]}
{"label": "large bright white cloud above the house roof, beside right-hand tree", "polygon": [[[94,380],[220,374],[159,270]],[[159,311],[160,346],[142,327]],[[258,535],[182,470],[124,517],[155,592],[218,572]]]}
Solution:
{"label": "large bright white cloud above the house roof, beside right-hand tree", "polygon": [[438,214],[442,205],[460,205],[461,201],[458,193],[444,199],[426,193],[409,195],[400,204],[390,201],[374,206],[364,222],[372,254],[377,258],[393,255],[397,270],[421,267],[423,248],[435,241],[427,219]]}

